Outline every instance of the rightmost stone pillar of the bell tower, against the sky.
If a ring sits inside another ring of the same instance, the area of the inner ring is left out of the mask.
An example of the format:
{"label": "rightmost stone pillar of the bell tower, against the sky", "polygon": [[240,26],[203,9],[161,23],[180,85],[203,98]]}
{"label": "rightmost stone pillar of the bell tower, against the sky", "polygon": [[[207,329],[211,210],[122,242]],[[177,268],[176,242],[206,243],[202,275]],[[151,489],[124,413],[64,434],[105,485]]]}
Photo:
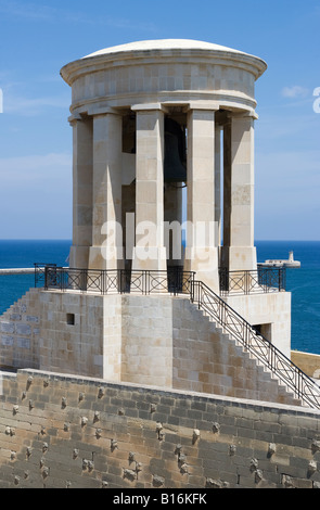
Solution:
{"label": "rightmost stone pillar of the bell tower, against the sky", "polygon": [[225,126],[222,265],[257,268],[254,246],[254,118],[233,115]]}

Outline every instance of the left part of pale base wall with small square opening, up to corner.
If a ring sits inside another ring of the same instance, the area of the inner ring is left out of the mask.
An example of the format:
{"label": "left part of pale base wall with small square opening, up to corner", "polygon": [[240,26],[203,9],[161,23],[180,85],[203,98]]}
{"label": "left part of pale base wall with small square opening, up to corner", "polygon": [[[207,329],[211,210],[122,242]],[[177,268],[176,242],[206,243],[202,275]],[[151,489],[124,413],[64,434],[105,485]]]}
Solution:
{"label": "left part of pale base wall with small square opening, up to corner", "polygon": [[30,289],[0,317],[0,367],[120,380],[119,317],[119,295]]}

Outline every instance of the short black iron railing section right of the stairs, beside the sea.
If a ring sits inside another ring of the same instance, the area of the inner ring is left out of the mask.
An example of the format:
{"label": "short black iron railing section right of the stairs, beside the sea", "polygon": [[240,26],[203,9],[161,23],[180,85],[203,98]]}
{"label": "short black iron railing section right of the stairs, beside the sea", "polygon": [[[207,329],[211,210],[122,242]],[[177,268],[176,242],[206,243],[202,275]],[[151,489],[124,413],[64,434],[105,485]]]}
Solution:
{"label": "short black iron railing section right of the stairs, beside the sea", "polygon": [[253,271],[219,268],[220,295],[265,294],[285,291],[285,268],[258,266]]}

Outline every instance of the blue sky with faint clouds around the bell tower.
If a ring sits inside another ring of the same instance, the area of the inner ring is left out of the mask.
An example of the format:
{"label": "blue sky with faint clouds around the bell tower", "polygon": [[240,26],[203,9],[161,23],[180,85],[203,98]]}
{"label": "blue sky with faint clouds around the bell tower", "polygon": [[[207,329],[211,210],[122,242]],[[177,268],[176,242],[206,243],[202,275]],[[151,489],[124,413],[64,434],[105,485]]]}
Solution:
{"label": "blue sky with faint clouds around the bell tower", "polygon": [[264,59],[256,239],[320,240],[319,0],[0,0],[0,239],[71,239],[71,89],[61,67],[110,46],[199,39]]}

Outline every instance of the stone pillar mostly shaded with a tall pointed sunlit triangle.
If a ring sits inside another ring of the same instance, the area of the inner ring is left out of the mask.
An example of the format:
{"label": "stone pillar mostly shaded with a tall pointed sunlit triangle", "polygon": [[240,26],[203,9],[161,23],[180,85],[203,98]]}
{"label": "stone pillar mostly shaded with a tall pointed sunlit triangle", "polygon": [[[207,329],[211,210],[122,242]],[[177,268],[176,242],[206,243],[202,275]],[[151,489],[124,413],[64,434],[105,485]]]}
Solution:
{"label": "stone pillar mostly shaded with a tall pointed sunlit triangle", "polygon": [[93,218],[90,269],[123,267],[121,116],[93,117]]}

